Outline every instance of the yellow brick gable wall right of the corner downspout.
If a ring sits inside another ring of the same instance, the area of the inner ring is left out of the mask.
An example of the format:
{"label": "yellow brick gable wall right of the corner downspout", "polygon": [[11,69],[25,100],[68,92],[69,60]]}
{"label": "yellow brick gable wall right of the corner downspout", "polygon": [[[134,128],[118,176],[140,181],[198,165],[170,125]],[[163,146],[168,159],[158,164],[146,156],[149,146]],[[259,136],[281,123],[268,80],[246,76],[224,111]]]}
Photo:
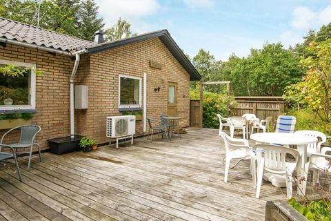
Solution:
{"label": "yellow brick gable wall right of the corner downspout", "polygon": [[[150,68],[150,59],[161,63],[161,70]],[[143,73],[147,74],[147,116],[154,119],[167,113],[168,81],[176,82],[177,115],[182,117],[180,126],[189,126],[190,75],[158,38],[99,52],[85,62],[88,68],[80,67],[78,71],[78,82],[88,85],[89,96],[88,110],[79,112],[79,125],[86,122],[86,126],[78,128],[81,134],[93,137],[99,143],[109,141],[106,117],[121,115],[118,108],[120,74],[141,77],[142,84]],[[86,69],[90,73],[86,74]],[[161,90],[155,93],[154,88],[158,86]],[[142,133],[143,123],[137,122],[136,129]]]}

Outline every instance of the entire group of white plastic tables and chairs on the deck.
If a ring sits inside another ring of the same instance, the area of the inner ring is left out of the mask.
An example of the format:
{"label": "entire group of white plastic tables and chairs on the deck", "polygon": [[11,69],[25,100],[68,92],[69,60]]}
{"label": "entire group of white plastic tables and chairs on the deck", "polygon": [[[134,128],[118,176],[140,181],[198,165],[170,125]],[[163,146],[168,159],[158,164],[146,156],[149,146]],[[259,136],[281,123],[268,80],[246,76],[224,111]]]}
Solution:
{"label": "entire group of white plastic tables and chairs on the deck", "polygon": [[[287,197],[292,198],[292,184],[295,184],[294,171],[297,171],[300,180],[297,182],[299,195],[305,195],[309,170],[314,171],[314,184],[319,180],[320,171],[331,171],[331,155],[325,154],[331,152],[331,148],[321,148],[326,136],[319,131],[294,132],[296,119],[293,116],[279,116],[275,133],[267,133],[271,117],[267,117],[264,121],[259,121],[254,115],[228,119],[218,117],[220,121],[222,119],[223,122],[230,124],[230,136],[223,132],[223,125],[219,128],[219,136],[223,138],[226,150],[223,158],[223,161],[225,159],[224,182],[228,181],[229,169],[237,166],[241,160],[249,159],[253,186],[257,189],[256,198],[259,198],[263,178],[278,187],[282,187],[285,183]],[[257,128],[263,133],[253,133]],[[234,129],[243,131],[242,139],[233,138]],[[248,134],[250,139],[256,142],[252,147],[245,139]],[[297,146],[297,149],[290,146]],[[234,159],[237,162],[230,167],[230,161]]]}

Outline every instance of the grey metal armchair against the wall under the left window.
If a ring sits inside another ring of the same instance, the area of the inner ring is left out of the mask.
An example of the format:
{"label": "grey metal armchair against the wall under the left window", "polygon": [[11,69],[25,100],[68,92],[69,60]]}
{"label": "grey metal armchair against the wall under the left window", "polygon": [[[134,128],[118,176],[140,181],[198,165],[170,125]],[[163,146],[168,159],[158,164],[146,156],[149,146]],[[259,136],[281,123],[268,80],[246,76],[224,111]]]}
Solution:
{"label": "grey metal armchair against the wall under the left window", "polygon": [[[10,148],[13,148],[15,153],[17,153],[17,149],[20,148],[29,148],[30,147],[30,152],[29,153],[29,161],[28,161],[28,170],[30,169],[30,163],[31,163],[31,156],[32,156],[32,148],[34,145],[38,147],[39,151],[39,160],[42,162],[43,160],[41,159],[41,151],[39,144],[36,143],[36,136],[37,134],[41,131],[40,126],[37,125],[23,125],[23,126],[17,126],[9,131],[7,131],[3,136],[1,137],[0,144],[3,144],[3,139],[11,133],[14,130],[20,129],[21,130],[21,137],[19,139],[19,142],[16,144],[6,144],[7,146],[10,146]],[[23,153],[23,152],[22,152]]]}

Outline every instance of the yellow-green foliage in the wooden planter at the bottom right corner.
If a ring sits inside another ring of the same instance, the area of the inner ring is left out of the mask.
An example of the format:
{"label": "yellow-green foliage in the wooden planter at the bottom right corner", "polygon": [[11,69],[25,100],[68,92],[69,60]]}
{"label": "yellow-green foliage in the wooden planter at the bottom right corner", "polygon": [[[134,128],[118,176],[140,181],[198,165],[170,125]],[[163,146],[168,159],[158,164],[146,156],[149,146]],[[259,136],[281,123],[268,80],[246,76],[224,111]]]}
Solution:
{"label": "yellow-green foliage in the wooden planter at the bottom right corner", "polygon": [[288,200],[288,204],[299,211],[308,220],[330,221],[331,220],[331,203],[326,200],[312,201],[307,204],[301,204],[294,198]]}

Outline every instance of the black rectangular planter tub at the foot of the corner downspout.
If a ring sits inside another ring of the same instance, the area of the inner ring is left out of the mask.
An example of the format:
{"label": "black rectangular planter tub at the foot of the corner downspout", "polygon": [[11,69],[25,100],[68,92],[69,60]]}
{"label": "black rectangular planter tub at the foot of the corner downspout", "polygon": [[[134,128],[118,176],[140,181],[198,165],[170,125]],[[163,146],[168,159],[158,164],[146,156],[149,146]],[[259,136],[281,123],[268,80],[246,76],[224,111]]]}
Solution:
{"label": "black rectangular planter tub at the foot of the corner downspout", "polygon": [[74,136],[74,139],[70,137],[59,137],[48,140],[48,146],[50,146],[50,152],[56,154],[70,153],[73,151],[79,151],[80,136]]}

